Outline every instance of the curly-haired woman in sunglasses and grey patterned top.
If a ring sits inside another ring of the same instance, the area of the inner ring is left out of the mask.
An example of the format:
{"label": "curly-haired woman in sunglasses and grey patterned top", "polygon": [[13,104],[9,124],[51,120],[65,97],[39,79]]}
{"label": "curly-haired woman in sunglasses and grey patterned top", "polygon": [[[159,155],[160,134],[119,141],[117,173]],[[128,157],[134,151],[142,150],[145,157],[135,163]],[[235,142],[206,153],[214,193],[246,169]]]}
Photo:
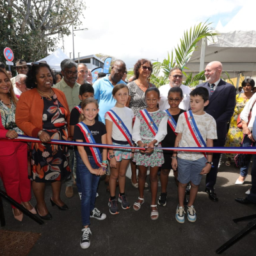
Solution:
{"label": "curly-haired woman in sunglasses and grey patterned top", "polygon": [[[134,65],[134,81],[128,83],[129,98],[127,106],[132,109],[134,116],[136,116],[140,110],[147,108],[145,102],[145,92],[150,87],[156,87],[156,85],[149,83],[148,79],[152,73],[152,64],[147,59],[140,59]],[[131,161],[132,170],[132,186],[138,188],[138,180],[136,178],[136,164]],[[148,187],[146,182],[145,187]]]}

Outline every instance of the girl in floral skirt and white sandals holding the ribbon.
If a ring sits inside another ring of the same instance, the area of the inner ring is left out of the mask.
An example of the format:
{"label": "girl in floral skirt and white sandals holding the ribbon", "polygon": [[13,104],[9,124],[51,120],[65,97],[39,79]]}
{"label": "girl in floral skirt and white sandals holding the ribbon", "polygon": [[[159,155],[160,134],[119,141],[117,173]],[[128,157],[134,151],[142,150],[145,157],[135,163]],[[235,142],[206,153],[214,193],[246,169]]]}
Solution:
{"label": "girl in floral skirt and white sandals holding the ribbon", "polygon": [[160,93],[157,88],[148,88],[145,92],[145,101],[147,108],[141,110],[134,122],[132,130],[132,140],[138,147],[146,148],[134,154],[133,161],[136,162],[139,168],[139,192],[140,196],[137,202],[134,203],[133,209],[140,210],[144,203],[144,188],[148,166],[150,167],[150,183],[151,183],[151,220],[157,220],[159,212],[157,211],[156,196],[157,196],[157,172],[160,166],[164,163],[163,150],[157,149],[161,147],[159,144],[167,134],[167,114],[160,111],[158,103]]}

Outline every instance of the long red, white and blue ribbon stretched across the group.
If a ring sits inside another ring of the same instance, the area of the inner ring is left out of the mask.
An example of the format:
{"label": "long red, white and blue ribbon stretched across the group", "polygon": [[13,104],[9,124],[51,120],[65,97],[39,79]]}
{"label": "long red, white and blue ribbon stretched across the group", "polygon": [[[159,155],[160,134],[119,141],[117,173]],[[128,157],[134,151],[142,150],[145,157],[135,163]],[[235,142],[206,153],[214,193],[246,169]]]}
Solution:
{"label": "long red, white and blue ribbon stretched across the group", "polygon": [[[16,139],[1,139],[1,141],[24,141],[24,142],[35,142],[35,143],[42,143],[38,138],[33,138],[25,135],[19,135]],[[66,140],[51,140],[48,142],[49,144],[61,144],[67,146],[83,146],[83,147],[98,147],[98,148],[127,148],[127,149],[138,149],[138,150],[146,150],[143,147],[131,147],[131,146],[124,146],[124,145],[109,145],[109,144],[98,144],[98,143],[85,143],[85,142],[77,142],[77,141],[66,141]],[[44,142],[45,144],[45,142]],[[223,154],[256,154],[256,147],[205,147],[205,148],[175,148],[175,147],[156,147],[157,149],[164,149],[164,150],[175,150],[175,151],[187,151],[187,152],[206,152],[206,153],[223,153]]]}

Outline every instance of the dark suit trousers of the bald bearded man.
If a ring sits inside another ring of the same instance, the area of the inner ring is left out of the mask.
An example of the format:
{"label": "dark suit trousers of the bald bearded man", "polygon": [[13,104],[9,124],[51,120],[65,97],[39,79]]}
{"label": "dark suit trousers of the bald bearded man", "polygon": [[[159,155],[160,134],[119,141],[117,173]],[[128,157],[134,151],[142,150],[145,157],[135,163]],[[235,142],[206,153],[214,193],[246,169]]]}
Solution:
{"label": "dark suit trousers of the bald bearded man", "polygon": [[[225,138],[220,138],[218,140],[213,141],[213,147],[224,147],[224,145]],[[212,162],[214,167],[212,167],[211,171],[206,175],[205,187],[211,190],[214,188],[214,185],[216,184],[220,155],[221,153],[213,153]]]}

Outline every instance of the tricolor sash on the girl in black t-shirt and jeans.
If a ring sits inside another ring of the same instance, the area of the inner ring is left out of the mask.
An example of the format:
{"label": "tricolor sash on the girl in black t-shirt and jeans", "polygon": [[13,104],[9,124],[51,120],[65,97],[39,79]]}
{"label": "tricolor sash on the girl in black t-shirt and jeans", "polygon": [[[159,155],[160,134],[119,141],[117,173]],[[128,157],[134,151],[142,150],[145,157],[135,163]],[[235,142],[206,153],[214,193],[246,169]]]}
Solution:
{"label": "tricolor sash on the girl in black t-shirt and jeans", "polygon": [[[96,143],[91,134],[91,131],[89,130],[88,126],[84,124],[84,122],[80,122],[79,124],[77,124],[77,126],[80,128],[81,132],[83,132],[84,139],[86,140],[87,143],[93,143],[93,144]],[[92,152],[92,156],[95,163],[97,164],[97,166],[100,167],[102,163],[102,157],[101,157],[99,148],[95,148],[95,147],[89,147],[89,148]]]}

